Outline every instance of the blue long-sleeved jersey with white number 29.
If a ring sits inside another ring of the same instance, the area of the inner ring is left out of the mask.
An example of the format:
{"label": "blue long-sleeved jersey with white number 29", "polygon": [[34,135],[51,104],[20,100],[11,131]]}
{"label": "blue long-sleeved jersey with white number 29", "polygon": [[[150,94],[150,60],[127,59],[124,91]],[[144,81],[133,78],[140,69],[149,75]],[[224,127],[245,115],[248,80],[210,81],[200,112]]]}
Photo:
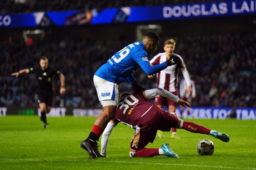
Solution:
{"label": "blue long-sleeved jersey with white number 29", "polygon": [[126,79],[133,83],[136,80],[132,73],[139,67],[146,74],[152,75],[168,66],[166,62],[151,66],[147,56],[143,42],[132,43],[113,55],[96,71],[95,75],[117,84],[123,83]]}

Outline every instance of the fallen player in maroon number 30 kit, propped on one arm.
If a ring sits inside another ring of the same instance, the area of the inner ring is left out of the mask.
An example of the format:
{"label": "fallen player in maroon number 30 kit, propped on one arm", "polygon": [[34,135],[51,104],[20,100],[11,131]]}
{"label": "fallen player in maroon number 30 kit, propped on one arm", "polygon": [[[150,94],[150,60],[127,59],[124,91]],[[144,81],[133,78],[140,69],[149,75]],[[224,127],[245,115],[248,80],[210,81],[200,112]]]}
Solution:
{"label": "fallen player in maroon number 30 kit, propped on one arm", "polygon": [[223,142],[229,141],[227,134],[212,131],[193,122],[183,121],[173,114],[160,109],[158,106],[147,102],[147,100],[157,95],[172,99],[179,105],[191,107],[188,102],[161,88],[133,94],[121,94],[115,118],[107,124],[101,138],[101,156],[106,156],[109,136],[118,122],[122,122],[135,129],[130,145],[130,157],[165,155],[165,157],[178,158],[178,155],[165,143],[161,148],[145,148],[149,142],[153,143],[157,130],[170,131],[171,128],[180,128],[193,133],[208,134]]}

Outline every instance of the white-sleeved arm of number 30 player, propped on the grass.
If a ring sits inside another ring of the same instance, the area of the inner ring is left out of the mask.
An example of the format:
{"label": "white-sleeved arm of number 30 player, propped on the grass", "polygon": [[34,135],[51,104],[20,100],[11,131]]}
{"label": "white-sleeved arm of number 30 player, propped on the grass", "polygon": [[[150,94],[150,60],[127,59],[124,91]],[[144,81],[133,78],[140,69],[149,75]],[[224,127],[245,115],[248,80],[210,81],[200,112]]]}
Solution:
{"label": "white-sleeved arm of number 30 player, propped on the grass", "polygon": [[103,131],[102,137],[101,137],[101,150],[100,150],[100,155],[101,156],[106,156],[107,155],[107,143],[108,139],[110,137],[111,132],[113,131],[115,127],[115,124],[112,122],[109,122],[107,124],[107,127]]}

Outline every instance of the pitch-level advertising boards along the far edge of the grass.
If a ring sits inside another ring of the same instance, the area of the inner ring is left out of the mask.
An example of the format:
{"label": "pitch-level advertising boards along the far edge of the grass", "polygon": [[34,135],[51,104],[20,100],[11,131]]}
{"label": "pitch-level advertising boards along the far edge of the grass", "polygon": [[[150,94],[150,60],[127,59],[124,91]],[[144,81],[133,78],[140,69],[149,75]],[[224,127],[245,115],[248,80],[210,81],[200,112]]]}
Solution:
{"label": "pitch-level advertising boards along the far edge of the grass", "polygon": [[[64,117],[73,115],[74,117],[97,117],[102,109],[87,108],[51,108],[51,112],[47,114],[49,117]],[[176,109],[177,115],[181,118],[180,108]],[[41,115],[39,108],[20,108],[20,107],[2,107],[0,108],[0,117],[8,115]],[[189,119],[227,119],[236,118],[238,120],[256,120],[255,108],[214,108],[214,107],[192,107],[189,111],[185,107],[182,112],[182,118]]]}

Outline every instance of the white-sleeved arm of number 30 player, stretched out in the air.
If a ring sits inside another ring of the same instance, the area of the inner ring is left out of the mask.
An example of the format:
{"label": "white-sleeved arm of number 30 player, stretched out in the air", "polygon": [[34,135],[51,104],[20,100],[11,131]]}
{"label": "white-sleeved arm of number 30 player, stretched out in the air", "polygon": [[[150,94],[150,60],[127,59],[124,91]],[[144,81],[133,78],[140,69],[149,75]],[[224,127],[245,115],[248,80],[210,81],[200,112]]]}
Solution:
{"label": "white-sleeved arm of number 30 player, stretched out in the air", "polygon": [[160,95],[160,96],[164,96],[164,97],[167,97],[167,98],[175,101],[179,105],[191,107],[191,105],[188,102],[186,102],[182,99],[179,99],[179,97],[177,97],[174,94],[170,93],[169,91],[164,90],[159,87],[154,88],[154,89],[145,90],[145,91],[143,91],[143,95],[145,96],[146,99],[152,99],[153,97]]}

